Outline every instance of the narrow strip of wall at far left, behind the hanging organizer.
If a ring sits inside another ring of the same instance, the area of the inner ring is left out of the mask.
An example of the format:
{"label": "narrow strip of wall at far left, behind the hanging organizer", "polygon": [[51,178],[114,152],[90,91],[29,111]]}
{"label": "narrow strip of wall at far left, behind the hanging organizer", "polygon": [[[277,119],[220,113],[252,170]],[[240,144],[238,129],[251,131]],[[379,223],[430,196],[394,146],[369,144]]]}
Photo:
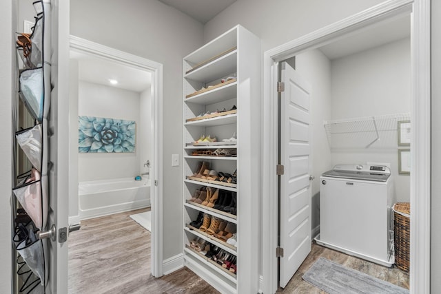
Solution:
{"label": "narrow strip of wall at far left, behind the hanging organizer", "polygon": [[12,99],[15,97],[15,79],[11,72],[15,66],[14,34],[17,29],[17,4],[15,1],[0,2],[0,120],[4,131],[0,140],[0,292],[12,293]]}

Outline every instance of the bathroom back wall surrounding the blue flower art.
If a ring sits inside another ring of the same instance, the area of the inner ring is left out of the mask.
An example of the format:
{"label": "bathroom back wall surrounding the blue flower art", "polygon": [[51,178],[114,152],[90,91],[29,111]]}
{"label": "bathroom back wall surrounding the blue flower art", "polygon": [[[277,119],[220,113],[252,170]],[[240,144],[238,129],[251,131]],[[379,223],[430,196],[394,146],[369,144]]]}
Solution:
{"label": "bathroom back wall surrounding the blue flower art", "polygon": [[[136,144],[139,143],[140,94],[116,87],[79,81],[79,116],[119,118],[136,121]],[[80,153],[78,156],[79,182],[131,178],[139,174],[140,152],[134,153]]]}

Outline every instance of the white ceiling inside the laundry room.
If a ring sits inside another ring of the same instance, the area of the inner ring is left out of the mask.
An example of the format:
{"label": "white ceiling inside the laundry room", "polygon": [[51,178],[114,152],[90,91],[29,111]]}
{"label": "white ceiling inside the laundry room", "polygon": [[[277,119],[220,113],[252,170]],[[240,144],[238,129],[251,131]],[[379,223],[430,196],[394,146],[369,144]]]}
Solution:
{"label": "white ceiling inside the laundry room", "polygon": [[357,31],[344,39],[322,46],[320,50],[328,59],[334,60],[407,38],[410,36],[410,32],[410,16],[399,17],[391,21],[377,23],[361,32]]}

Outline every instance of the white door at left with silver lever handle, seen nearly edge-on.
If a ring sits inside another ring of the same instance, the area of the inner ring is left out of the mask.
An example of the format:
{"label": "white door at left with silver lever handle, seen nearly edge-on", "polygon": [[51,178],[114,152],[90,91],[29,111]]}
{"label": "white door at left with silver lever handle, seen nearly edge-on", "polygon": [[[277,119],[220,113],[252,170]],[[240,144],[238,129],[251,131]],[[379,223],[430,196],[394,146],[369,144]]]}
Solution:
{"label": "white door at left with silver lever handle, seen nearly edge-on", "polygon": [[[50,2],[50,43],[53,85],[48,120],[49,201],[48,226],[55,225],[54,240],[46,239],[48,284],[45,293],[68,293],[68,202],[69,202],[69,6],[70,1]],[[47,18],[45,19],[47,20]],[[45,21],[48,25],[48,21]],[[47,51],[47,49],[46,49]],[[48,53],[46,52],[45,53]],[[65,230],[65,233],[63,233]]]}

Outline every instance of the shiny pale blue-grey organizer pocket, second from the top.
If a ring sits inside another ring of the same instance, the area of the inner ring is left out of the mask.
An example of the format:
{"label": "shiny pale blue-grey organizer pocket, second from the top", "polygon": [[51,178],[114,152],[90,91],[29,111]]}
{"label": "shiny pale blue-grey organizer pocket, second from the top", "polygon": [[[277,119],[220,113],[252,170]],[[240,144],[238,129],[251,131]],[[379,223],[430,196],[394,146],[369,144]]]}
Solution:
{"label": "shiny pale blue-grey organizer pocket, second from the top", "polygon": [[34,119],[43,118],[43,67],[23,70],[20,74],[20,98]]}

